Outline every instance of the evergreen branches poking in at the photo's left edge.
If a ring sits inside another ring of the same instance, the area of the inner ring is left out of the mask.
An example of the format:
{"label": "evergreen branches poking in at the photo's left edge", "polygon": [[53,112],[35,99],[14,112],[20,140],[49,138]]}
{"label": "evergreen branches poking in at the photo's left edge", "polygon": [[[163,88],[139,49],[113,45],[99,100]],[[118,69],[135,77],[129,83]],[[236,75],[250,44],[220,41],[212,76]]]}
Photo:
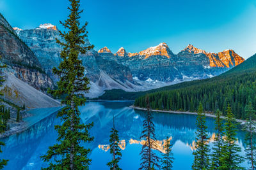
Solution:
{"label": "evergreen branches poking in at the photo's left edge", "polygon": [[[1,55],[0,55],[0,59],[1,59]],[[0,64],[0,87],[3,86],[3,83],[5,81],[4,76],[3,76],[3,71],[2,71],[4,67],[6,67],[6,65]],[[1,92],[0,92],[0,96],[3,96],[3,94]],[[2,122],[3,120],[2,119],[0,119],[0,120],[1,120],[0,126],[3,127],[3,131],[1,131],[0,133],[2,133],[2,132],[4,132],[4,129],[6,127],[4,127],[4,124]],[[5,143],[0,141],[0,153],[2,153],[1,146],[5,146]],[[0,159],[0,169],[3,169],[4,166],[7,165],[7,162],[8,162],[8,160],[6,160],[6,159]]]}

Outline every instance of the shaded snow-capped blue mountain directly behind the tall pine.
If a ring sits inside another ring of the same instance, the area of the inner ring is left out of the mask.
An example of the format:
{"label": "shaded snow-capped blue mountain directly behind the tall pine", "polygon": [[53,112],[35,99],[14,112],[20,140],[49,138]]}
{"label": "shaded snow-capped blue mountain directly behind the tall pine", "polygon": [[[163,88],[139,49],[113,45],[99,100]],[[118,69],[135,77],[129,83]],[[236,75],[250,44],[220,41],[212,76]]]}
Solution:
{"label": "shaded snow-capped blue mountain directly behind the tall pine", "polygon": [[[58,67],[61,62],[62,47],[56,43],[56,38],[64,41],[59,36],[58,28],[52,24],[42,24],[36,29],[15,29],[15,31],[35,53],[52,80],[58,81],[58,78],[52,74],[52,67]],[[86,39],[85,45],[90,45],[88,39]],[[108,52],[108,49],[103,48],[102,52]],[[89,97],[97,97],[106,89],[134,90],[133,86],[136,83],[132,79],[129,67],[118,64],[115,60],[103,59],[95,50],[90,50],[85,55],[80,55],[79,58],[83,61],[86,76],[92,84]]]}

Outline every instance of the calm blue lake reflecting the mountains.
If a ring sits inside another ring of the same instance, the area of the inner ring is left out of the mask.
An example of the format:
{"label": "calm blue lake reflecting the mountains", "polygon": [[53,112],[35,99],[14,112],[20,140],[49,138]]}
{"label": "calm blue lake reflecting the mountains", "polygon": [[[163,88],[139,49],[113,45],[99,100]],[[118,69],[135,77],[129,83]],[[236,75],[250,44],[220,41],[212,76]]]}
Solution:
{"label": "calm blue lake reflecting the mountains", "polygon": [[[102,101],[88,102],[86,106],[80,108],[81,119],[84,123],[94,122],[90,134],[94,136],[92,143],[84,144],[92,149],[90,158],[92,165],[90,169],[109,169],[106,166],[111,160],[109,153],[109,134],[113,127],[113,116],[115,116],[115,127],[118,130],[122,150],[122,169],[138,169],[140,167],[141,151],[141,131],[143,130],[143,120],[145,112],[129,108],[131,101]],[[6,143],[2,147],[0,159],[9,159],[5,169],[41,169],[47,166],[42,162],[40,156],[47,152],[48,146],[56,143],[57,133],[54,125],[60,124],[60,119],[56,118],[56,109],[36,109],[31,113],[43,117],[27,118],[31,124],[28,130],[1,139]],[[52,113],[52,114],[49,114]],[[42,115],[48,115],[44,118]],[[174,163],[173,169],[191,169],[193,163],[193,150],[195,150],[196,115],[174,114],[174,113],[154,113],[154,124],[158,150],[154,152],[161,157],[163,154],[163,142],[166,137],[172,139]],[[36,116],[35,116],[36,117]],[[209,143],[212,145],[214,138],[214,119],[206,118],[209,131]],[[34,122],[33,122],[34,121]],[[244,155],[244,132],[237,132],[237,143],[242,148],[241,155]],[[244,162],[243,166],[247,167]]]}

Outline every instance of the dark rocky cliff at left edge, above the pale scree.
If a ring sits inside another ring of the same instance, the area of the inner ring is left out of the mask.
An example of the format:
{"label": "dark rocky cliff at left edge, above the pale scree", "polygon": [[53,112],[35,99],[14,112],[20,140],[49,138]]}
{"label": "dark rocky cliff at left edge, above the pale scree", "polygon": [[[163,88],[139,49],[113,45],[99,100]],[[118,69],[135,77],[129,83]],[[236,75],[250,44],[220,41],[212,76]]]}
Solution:
{"label": "dark rocky cliff at left edge, above the pale scree", "polygon": [[52,81],[29,47],[0,15],[0,55],[6,70],[36,89],[52,87]]}

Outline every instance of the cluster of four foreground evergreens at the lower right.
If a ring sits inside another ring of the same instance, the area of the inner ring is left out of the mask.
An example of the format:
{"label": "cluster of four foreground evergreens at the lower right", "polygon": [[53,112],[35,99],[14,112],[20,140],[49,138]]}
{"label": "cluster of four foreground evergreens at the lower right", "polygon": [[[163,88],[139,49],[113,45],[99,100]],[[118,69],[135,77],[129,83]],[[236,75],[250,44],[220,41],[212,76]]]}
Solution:
{"label": "cluster of four foreground evergreens at the lower right", "polygon": [[[202,103],[199,104],[196,118],[196,150],[193,152],[194,162],[192,169],[246,169],[241,166],[244,160],[247,160],[250,169],[255,169],[255,110],[252,109],[252,103],[246,105],[246,130],[245,153],[246,157],[241,156],[241,146],[235,141],[237,124],[230,105],[227,105],[227,117],[225,121],[221,118],[220,110],[216,111],[215,130],[216,136],[213,146],[210,148],[205,115],[203,113]],[[211,151],[212,150],[212,151]]]}

